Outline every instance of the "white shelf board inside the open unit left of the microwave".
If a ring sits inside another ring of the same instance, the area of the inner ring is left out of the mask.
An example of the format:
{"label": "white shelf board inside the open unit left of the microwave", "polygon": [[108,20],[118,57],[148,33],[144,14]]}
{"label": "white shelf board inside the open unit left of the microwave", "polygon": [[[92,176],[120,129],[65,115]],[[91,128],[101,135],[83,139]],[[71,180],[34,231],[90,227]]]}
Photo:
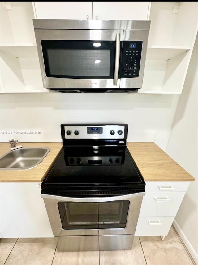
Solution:
{"label": "white shelf board inside the open unit left of the microwave", "polygon": [[0,44],[0,51],[16,58],[38,58],[36,43]]}

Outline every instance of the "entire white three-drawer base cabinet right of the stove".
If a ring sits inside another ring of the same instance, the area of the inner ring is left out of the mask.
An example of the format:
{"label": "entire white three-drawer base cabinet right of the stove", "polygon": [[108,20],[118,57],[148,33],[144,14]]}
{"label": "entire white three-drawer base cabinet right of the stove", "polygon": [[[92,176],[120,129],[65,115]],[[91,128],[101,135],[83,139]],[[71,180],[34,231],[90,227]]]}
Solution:
{"label": "entire white three-drawer base cabinet right of the stove", "polygon": [[146,182],[136,236],[166,236],[189,182]]}

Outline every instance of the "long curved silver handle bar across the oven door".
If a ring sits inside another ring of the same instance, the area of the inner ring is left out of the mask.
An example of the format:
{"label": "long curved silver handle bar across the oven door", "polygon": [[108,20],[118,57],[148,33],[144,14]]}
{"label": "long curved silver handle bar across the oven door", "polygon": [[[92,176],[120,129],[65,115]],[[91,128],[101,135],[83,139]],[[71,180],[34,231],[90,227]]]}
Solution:
{"label": "long curved silver handle bar across the oven door", "polygon": [[102,203],[102,202],[111,202],[111,201],[118,201],[118,200],[127,200],[127,199],[132,199],[132,198],[140,197],[144,195],[145,195],[145,192],[139,192],[139,193],[113,196],[113,197],[73,198],[73,197],[63,197],[63,196],[56,196],[56,195],[50,195],[50,194],[41,194],[41,198],[53,199],[53,200],[58,200],[58,201],[63,201],[63,202]]}

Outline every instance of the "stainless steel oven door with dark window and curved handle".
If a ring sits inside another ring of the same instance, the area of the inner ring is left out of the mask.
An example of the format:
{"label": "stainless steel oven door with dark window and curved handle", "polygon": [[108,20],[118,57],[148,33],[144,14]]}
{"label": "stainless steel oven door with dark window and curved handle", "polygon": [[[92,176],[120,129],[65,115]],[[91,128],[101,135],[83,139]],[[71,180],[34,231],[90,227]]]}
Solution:
{"label": "stainless steel oven door with dark window and curved handle", "polygon": [[54,236],[134,235],[144,192],[69,198],[41,194]]}

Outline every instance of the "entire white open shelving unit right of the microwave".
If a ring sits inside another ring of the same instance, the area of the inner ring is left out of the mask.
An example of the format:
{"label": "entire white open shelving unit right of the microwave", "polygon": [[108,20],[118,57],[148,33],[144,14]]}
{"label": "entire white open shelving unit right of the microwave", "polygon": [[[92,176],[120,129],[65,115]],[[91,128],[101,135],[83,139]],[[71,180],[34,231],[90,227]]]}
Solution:
{"label": "entire white open shelving unit right of the microwave", "polygon": [[151,2],[149,19],[144,80],[138,93],[181,94],[197,34],[197,2]]}

